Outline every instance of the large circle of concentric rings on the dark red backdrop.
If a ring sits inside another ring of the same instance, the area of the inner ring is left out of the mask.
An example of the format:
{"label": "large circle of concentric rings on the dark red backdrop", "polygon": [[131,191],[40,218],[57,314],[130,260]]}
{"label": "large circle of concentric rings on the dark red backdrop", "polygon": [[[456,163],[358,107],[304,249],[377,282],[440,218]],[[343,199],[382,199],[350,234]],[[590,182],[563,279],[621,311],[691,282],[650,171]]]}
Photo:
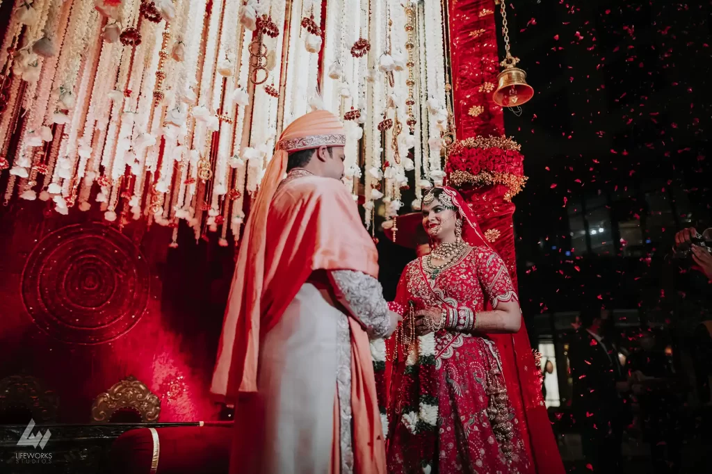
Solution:
{"label": "large circle of concentric rings on the dark red backdrop", "polygon": [[149,289],[150,269],[139,248],[96,222],[42,238],[22,274],[22,297],[34,322],[73,344],[124,335],[146,309]]}

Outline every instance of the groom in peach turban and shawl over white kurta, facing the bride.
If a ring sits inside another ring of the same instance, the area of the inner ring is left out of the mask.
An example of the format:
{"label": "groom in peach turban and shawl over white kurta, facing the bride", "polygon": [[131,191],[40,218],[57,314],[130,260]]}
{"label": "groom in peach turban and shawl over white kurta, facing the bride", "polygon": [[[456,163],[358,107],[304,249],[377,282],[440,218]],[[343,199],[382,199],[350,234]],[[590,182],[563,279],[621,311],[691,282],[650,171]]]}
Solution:
{"label": "groom in peach turban and shawl over white kurta, facing the bride", "polygon": [[340,181],[344,144],[330,112],[298,118],[251,206],[211,387],[235,404],[231,473],[386,472],[369,338],[398,317]]}

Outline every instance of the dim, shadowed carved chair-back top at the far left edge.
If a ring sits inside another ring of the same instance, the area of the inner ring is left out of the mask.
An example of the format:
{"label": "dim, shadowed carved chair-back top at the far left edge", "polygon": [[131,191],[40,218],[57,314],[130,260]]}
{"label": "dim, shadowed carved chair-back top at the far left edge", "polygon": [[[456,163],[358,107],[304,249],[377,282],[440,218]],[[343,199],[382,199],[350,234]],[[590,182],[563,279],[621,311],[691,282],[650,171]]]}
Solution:
{"label": "dim, shadowed carved chair-back top at the far left edge", "polygon": [[31,375],[11,375],[0,380],[0,424],[56,421],[58,396]]}

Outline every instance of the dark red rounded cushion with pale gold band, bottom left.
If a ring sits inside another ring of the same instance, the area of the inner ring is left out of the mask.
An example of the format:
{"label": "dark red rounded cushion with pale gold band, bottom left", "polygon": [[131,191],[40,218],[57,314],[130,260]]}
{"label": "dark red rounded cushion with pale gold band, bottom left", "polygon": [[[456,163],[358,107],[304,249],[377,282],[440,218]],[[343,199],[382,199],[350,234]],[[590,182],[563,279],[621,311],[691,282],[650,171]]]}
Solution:
{"label": "dark red rounded cushion with pale gold band, bottom left", "polygon": [[[159,440],[156,474],[226,474],[232,423],[227,426],[155,428]],[[115,474],[150,474],[154,446],[149,428],[127,431],[114,441],[110,466]]]}

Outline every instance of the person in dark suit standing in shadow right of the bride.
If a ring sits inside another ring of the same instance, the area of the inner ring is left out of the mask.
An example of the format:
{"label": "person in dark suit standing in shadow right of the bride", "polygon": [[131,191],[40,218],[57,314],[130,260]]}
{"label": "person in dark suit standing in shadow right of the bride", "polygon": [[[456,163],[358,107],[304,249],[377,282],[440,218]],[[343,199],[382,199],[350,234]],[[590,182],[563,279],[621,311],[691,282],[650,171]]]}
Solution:
{"label": "person in dark suit standing in shadow right of the bride", "polygon": [[609,310],[600,306],[584,310],[568,354],[573,379],[571,406],[583,453],[593,472],[604,474],[619,472],[623,431],[632,416],[625,397],[627,377],[613,333]]}

